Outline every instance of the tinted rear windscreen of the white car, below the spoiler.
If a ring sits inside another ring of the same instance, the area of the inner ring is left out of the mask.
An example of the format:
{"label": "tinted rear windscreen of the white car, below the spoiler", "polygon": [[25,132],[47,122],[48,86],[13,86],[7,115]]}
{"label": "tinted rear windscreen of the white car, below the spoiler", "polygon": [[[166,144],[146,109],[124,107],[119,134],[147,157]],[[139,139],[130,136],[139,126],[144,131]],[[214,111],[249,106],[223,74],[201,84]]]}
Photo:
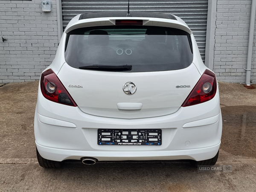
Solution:
{"label": "tinted rear windscreen of the white car, below the spoiler", "polygon": [[[129,65],[123,72],[178,70],[192,63],[189,33],[157,26],[97,26],[67,34],[65,59],[71,67]],[[100,70],[100,69],[98,69]]]}

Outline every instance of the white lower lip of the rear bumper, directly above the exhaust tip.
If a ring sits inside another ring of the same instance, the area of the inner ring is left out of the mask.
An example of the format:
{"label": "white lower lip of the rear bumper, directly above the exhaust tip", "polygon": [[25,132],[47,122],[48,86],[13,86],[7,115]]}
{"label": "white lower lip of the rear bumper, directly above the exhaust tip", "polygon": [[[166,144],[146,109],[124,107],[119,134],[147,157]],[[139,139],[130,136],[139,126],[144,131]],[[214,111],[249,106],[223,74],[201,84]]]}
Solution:
{"label": "white lower lip of the rear bumper, directly above the exhaust tip", "polygon": [[214,157],[221,143],[207,148],[178,151],[74,151],[44,147],[36,143],[39,153],[45,159],[62,161],[80,160],[81,157],[94,157],[99,161],[122,160],[206,160]]}

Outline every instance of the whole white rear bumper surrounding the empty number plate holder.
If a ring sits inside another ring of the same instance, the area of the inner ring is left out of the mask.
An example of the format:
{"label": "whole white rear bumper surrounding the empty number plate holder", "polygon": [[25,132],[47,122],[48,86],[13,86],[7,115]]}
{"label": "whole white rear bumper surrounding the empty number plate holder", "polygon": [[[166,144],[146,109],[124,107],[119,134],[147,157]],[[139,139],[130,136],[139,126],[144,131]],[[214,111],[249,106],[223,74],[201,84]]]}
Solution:
{"label": "whole white rear bumper surrounding the empty number plate holder", "polygon": [[[221,143],[222,117],[219,96],[209,102],[180,108],[166,116],[115,119],[93,116],[78,107],[51,102],[38,93],[35,110],[38,152],[48,160],[207,160]],[[98,145],[97,130],[162,129],[162,145]]]}

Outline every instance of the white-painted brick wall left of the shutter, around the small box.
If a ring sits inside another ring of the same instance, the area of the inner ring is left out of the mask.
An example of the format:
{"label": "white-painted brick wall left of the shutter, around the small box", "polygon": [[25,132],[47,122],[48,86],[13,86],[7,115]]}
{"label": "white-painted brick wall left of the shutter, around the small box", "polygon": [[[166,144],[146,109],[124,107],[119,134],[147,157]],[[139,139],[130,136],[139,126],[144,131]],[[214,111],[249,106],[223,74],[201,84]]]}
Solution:
{"label": "white-painted brick wall left of the shutter, around the small box", "polygon": [[0,83],[35,81],[58,47],[56,0],[42,12],[41,0],[0,0]]}

